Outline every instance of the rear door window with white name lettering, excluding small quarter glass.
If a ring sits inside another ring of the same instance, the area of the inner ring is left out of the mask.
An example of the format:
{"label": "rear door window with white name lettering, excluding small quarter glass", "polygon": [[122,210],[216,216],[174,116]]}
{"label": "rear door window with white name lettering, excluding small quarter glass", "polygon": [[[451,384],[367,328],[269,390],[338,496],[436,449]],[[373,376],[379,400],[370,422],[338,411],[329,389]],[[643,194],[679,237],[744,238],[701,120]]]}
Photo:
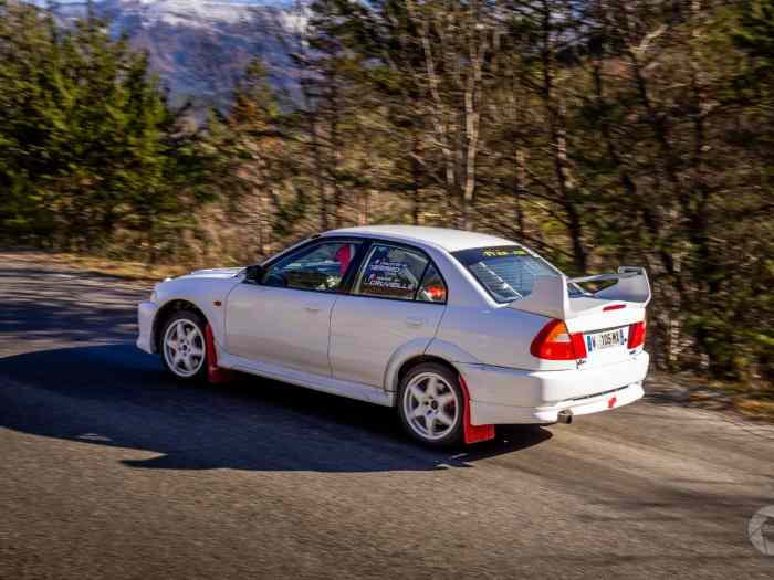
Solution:
{"label": "rear door window with white name lettering, excluding small quarter glass", "polygon": [[374,244],[353,294],[412,300],[427,264],[419,252]]}

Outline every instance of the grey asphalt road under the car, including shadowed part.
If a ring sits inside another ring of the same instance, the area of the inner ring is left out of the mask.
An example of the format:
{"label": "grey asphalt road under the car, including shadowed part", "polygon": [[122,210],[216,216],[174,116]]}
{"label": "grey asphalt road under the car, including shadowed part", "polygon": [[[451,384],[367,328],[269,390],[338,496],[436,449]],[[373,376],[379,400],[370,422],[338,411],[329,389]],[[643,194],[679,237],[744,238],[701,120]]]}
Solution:
{"label": "grey asphalt road under the car, including shadowed part", "polygon": [[773,578],[774,430],[650,398],[435,452],[134,347],[150,288],[0,254],[0,578]]}

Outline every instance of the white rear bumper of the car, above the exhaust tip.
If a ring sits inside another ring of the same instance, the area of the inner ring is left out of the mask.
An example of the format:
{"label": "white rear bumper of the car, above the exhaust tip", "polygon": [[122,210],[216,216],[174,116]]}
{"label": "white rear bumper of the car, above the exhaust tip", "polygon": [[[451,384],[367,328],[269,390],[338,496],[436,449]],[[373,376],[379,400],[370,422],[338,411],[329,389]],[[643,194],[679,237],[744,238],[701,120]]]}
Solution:
{"label": "white rear bumper of the car, above the exhaust tip", "polygon": [[644,394],[649,356],[604,367],[526,371],[459,365],[470,391],[473,425],[555,423],[559,411],[582,415],[617,409]]}

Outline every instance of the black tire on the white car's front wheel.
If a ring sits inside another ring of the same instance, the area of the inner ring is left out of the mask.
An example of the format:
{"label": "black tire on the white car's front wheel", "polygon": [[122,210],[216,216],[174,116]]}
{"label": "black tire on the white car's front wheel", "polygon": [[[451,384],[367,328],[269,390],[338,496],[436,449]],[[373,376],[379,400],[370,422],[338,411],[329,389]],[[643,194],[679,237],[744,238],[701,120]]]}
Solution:
{"label": "black tire on the white car's front wheel", "polygon": [[[177,365],[174,363],[171,348],[167,348],[167,335],[169,333],[175,333],[170,329],[172,327],[192,329],[196,327],[196,333],[194,335],[189,334],[191,338],[186,338],[185,342],[180,345],[180,348],[185,348],[184,355],[189,356],[192,360],[190,368],[187,367],[182,360]],[[205,329],[207,327],[206,320],[198,314],[191,310],[178,310],[171,316],[169,316],[164,321],[164,327],[159,336],[158,350],[161,356],[161,363],[167,371],[175,377],[177,380],[186,382],[199,382],[207,378],[207,341],[205,339]],[[197,355],[197,352],[201,352]]]}

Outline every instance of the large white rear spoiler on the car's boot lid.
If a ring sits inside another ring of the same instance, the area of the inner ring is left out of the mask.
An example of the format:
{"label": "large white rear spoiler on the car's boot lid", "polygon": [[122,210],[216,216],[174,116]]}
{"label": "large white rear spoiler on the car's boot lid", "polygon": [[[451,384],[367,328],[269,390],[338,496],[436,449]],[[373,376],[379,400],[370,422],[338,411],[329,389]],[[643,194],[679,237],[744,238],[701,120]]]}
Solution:
{"label": "large white rear spoiler on the car's boot lid", "polygon": [[[569,297],[569,284],[583,284],[587,282],[617,282],[594,294]],[[618,272],[598,274],[595,276],[582,276],[567,278],[564,274],[558,276],[537,276],[532,287],[532,293],[521,299],[512,302],[509,306],[516,310],[540,314],[567,320],[592,312],[599,310],[608,303],[617,302],[645,307],[650,302],[650,283],[644,267],[620,266]]]}

